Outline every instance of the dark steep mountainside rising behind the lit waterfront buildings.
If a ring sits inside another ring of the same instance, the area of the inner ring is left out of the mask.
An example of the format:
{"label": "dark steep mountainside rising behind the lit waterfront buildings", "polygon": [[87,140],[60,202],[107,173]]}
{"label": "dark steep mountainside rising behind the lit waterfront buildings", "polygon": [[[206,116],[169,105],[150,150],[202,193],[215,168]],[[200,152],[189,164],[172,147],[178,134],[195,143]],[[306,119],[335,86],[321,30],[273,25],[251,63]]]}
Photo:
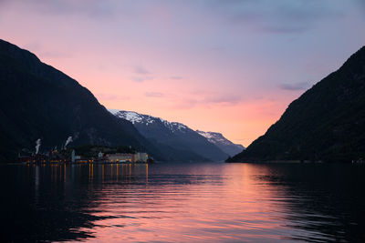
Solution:
{"label": "dark steep mountainside rising behind the lit waterfront buildings", "polygon": [[19,152],[71,145],[127,145],[158,150],[129,121],[110,115],[89,90],[34,54],[0,40],[0,162]]}

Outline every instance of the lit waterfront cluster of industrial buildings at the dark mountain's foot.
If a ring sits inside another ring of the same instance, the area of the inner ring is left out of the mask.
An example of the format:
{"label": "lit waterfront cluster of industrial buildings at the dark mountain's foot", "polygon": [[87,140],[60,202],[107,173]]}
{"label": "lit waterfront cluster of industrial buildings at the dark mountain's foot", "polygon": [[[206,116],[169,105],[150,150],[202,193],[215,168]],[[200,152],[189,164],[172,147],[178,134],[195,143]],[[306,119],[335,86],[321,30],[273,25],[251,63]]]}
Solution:
{"label": "lit waterfront cluster of industrial buildings at the dark mountain's foot", "polygon": [[46,153],[36,151],[27,155],[19,153],[18,159],[23,163],[151,163],[147,153],[136,151],[132,147],[81,146],[57,147]]}

